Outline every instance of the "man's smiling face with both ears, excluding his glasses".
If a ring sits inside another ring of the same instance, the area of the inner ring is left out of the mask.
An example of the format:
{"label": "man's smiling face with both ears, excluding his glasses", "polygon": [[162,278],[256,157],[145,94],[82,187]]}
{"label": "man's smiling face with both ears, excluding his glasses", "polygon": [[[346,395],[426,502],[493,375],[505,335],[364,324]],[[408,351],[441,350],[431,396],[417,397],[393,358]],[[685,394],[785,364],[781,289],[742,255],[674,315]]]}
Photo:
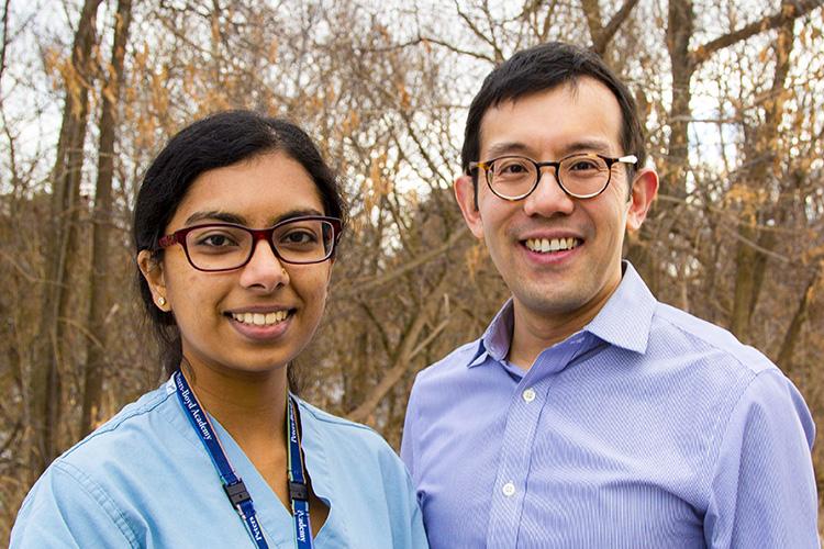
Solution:
{"label": "man's smiling face with both ears, excluding his glasses", "polygon": [[[581,78],[576,85],[490,108],[480,125],[478,160],[633,154],[621,148],[621,124],[612,92],[594,79]],[[485,239],[517,310],[564,324],[574,317],[591,318],[605,303],[621,280],[624,229],[641,226],[657,189],[655,173],[639,170],[630,195],[626,168],[614,165],[609,187],[586,200],[567,195],[555,170],[543,168],[537,189],[517,202],[495,197],[479,170],[477,210],[469,177],[456,181],[467,224]],[[543,251],[544,240],[561,249]]]}

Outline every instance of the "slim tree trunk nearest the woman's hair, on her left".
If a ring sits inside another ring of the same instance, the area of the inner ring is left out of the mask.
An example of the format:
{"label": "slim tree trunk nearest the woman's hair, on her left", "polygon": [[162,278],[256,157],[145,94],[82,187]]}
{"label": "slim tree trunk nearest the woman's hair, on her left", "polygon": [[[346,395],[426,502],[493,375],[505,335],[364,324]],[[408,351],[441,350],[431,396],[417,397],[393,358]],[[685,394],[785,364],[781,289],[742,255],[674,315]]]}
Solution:
{"label": "slim tree trunk nearest the woman's hair, on her left", "polygon": [[114,173],[114,142],[118,124],[120,90],[123,86],[123,60],[129,27],[132,23],[132,0],[120,0],[114,22],[114,42],[109,78],[103,85],[100,112],[100,150],[98,184],[92,213],[91,288],[89,290],[89,332],[96,339],[87,339],[87,363],[83,372],[83,403],[80,433],[91,432],[100,417],[103,370],[105,366],[105,316],[109,312],[109,242],[112,234],[112,177]]}

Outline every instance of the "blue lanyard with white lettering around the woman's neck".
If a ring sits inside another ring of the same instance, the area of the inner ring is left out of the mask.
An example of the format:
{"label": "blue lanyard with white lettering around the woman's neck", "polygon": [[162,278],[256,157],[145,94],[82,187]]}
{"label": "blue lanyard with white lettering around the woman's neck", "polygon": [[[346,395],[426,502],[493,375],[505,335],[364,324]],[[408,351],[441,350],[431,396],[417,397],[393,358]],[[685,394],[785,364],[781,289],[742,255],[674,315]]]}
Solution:
{"label": "blue lanyard with white lettering around the woman's neck", "polygon": [[[209,421],[209,416],[198,402],[194,392],[189,386],[180,370],[177,370],[172,377],[180,406],[189,418],[189,423],[194,428],[194,433],[198,434],[200,441],[203,442],[203,447],[209,453],[214,468],[220,473],[226,497],[229,497],[232,506],[235,507],[237,514],[241,516],[253,542],[259,549],[268,549],[269,546],[264,538],[263,529],[257,523],[252,496],[246,491],[243,479],[235,473],[232,464],[229,462],[229,458],[223,451],[223,447],[218,439],[218,434],[214,427],[212,427],[212,423]],[[300,438],[294,417],[294,404],[290,397],[288,397],[287,410],[289,433],[289,497],[292,504],[292,515],[294,516],[296,545],[299,549],[313,549],[312,528],[309,523],[309,488],[303,474],[303,460],[301,459]]]}

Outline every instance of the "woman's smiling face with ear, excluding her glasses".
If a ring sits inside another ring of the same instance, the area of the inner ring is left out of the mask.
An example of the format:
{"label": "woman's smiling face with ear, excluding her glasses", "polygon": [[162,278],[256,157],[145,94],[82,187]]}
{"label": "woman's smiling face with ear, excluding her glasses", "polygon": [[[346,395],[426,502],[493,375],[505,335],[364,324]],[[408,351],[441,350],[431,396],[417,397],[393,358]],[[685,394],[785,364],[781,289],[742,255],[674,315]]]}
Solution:
{"label": "woman's smiling face with ear, excluding her glasses", "polygon": [[[165,234],[210,222],[264,228],[323,214],[310,175],[275,152],[201,173]],[[145,251],[138,261],[155,303],[163,296],[162,309],[175,315],[186,359],[196,371],[222,373],[265,372],[292,360],[321,320],[332,264],[281,262],[265,240],[256,243],[248,264],[231,271],[194,269],[180,245],[166,248],[154,268]]]}

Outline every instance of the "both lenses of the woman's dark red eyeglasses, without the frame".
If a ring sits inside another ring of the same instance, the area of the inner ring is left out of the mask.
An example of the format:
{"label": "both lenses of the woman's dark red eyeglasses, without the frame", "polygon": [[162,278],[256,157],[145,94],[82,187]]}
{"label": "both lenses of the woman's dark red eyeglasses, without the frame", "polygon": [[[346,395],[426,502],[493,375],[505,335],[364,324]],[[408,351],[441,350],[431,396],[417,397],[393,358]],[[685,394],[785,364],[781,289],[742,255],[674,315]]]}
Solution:
{"label": "both lenses of the woman's dark red eyeglasses, without the frame", "polygon": [[[322,220],[296,220],[271,233],[271,244],[281,259],[291,264],[323,261],[332,254],[335,231]],[[207,225],[186,235],[189,260],[198,269],[235,269],[254,251],[255,238],[242,227]]]}

